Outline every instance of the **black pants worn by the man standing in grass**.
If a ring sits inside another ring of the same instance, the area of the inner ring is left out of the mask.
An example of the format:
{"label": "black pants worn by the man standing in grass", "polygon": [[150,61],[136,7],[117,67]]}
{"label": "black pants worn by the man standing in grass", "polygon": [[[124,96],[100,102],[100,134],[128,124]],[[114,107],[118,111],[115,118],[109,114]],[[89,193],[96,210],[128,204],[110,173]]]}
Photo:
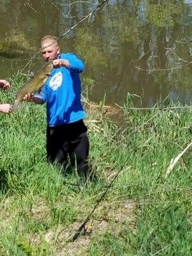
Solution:
{"label": "black pants worn by the man standing in grass", "polygon": [[65,170],[67,155],[72,166],[77,166],[79,176],[88,174],[89,141],[83,120],[71,124],[47,127],[47,159],[58,161]]}

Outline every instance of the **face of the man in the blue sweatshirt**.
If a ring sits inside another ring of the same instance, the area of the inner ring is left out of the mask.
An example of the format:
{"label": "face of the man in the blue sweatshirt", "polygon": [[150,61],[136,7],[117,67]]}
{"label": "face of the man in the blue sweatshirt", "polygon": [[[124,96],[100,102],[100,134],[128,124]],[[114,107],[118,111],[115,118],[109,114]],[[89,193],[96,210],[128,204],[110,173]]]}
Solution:
{"label": "face of the man in the blue sweatshirt", "polygon": [[60,47],[57,44],[52,44],[52,42],[45,42],[42,44],[42,56],[45,61],[53,61],[58,58],[60,54]]}

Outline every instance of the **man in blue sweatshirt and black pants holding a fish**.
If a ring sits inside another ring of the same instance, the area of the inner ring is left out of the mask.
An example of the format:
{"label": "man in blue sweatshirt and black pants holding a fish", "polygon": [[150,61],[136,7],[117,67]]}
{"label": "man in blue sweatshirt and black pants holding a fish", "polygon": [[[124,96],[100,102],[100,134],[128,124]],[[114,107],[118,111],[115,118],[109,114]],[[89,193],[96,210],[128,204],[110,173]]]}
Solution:
{"label": "man in blue sweatshirt and black pants holding a fish", "polygon": [[52,61],[54,68],[42,92],[29,93],[24,100],[33,100],[36,104],[47,102],[47,159],[51,163],[58,161],[65,170],[69,156],[79,176],[86,177],[89,142],[83,122],[79,78],[84,65],[74,54],[60,53],[55,41],[56,37],[51,35],[42,38],[42,56],[45,61]]}

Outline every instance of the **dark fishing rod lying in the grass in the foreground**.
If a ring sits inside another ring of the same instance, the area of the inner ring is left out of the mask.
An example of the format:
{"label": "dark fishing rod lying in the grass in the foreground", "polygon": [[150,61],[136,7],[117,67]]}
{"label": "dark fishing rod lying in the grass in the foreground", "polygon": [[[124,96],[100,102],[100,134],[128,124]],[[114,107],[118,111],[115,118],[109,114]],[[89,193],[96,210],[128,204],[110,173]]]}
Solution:
{"label": "dark fishing rod lying in the grass in the foreground", "polygon": [[79,237],[81,231],[83,230],[83,228],[85,228],[86,223],[90,220],[90,217],[92,216],[93,212],[95,211],[95,209],[97,209],[98,205],[100,204],[100,202],[103,200],[103,198],[106,196],[106,194],[108,193],[109,188],[111,188],[113,182],[115,181],[116,177],[119,175],[119,173],[122,172],[122,169],[120,169],[115,177],[113,178],[113,180],[111,180],[110,184],[108,185],[108,187],[106,188],[106,191],[104,191],[104,193],[102,194],[102,196],[100,196],[99,200],[97,201],[97,204],[95,204],[95,206],[93,207],[92,211],[90,212],[90,214],[88,214],[88,216],[86,217],[86,219],[83,221],[83,223],[81,224],[81,226],[77,229],[76,233],[74,234],[74,237],[72,238],[72,242],[76,241],[77,237]]}

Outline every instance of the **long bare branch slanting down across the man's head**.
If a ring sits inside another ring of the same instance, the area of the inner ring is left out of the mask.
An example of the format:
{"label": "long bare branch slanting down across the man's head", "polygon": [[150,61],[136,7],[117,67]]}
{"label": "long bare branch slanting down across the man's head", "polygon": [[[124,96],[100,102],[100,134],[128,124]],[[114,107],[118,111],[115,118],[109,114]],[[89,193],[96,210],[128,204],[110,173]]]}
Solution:
{"label": "long bare branch slanting down across the man's head", "polygon": [[[90,12],[86,17],[84,17],[82,20],[80,20],[76,25],[72,26],[70,29],[68,29],[67,32],[65,32],[63,35],[61,35],[60,37],[58,37],[54,42],[52,42],[52,44],[54,44],[55,42],[58,42],[61,38],[63,38],[63,36],[66,36],[68,33],[70,33],[70,31],[72,31],[74,28],[76,28],[77,26],[79,26],[79,24],[81,24],[82,22],[84,22],[84,20],[89,19],[90,17],[92,17],[93,13],[96,12],[100,6],[102,6],[102,4],[108,2],[109,0],[104,0],[102,1],[102,3],[98,4],[97,7],[95,7],[95,9],[93,9],[92,12]],[[50,44],[50,45],[52,45]],[[50,46],[48,45],[48,46]],[[42,50],[40,49],[38,52],[36,52],[36,54],[33,55],[33,57],[31,58],[31,60],[28,61],[28,63],[24,66],[24,68],[22,68],[21,72],[28,67],[28,65],[33,61],[33,59],[41,52]]]}

